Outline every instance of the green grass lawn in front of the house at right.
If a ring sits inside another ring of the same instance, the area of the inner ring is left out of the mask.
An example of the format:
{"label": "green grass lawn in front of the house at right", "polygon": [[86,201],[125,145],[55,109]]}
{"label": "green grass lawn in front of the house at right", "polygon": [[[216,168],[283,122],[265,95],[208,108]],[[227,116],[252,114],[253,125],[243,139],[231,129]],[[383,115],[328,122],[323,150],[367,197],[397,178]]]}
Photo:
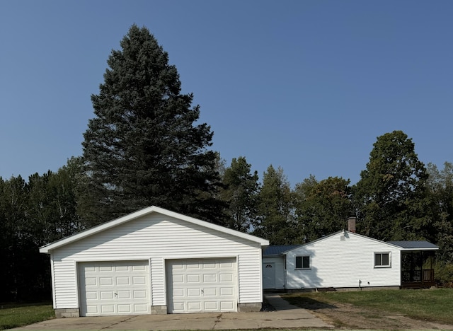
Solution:
{"label": "green grass lawn in front of the house at right", "polygon": [[350,303],[388,313],[400,313],[418,320],[453,324],[453,289],[382,290],[288,294],[287,301],[304,306],[308,301],[335,305]]}

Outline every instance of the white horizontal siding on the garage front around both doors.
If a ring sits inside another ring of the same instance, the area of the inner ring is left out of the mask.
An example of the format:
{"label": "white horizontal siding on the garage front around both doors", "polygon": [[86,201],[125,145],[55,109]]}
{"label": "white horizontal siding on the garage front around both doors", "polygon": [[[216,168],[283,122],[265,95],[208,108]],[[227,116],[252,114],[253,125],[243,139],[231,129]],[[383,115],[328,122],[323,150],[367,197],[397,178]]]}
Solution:
{"label": "white horizontal siding on the garage front around both doors", "polygon": [[200,257],[237,258],[238,303],[262,301],[259,243],[153,213],[53,251],[55,308],[79,306],[75,262],[150,259],[152,305],[164,306],[165,260]]}

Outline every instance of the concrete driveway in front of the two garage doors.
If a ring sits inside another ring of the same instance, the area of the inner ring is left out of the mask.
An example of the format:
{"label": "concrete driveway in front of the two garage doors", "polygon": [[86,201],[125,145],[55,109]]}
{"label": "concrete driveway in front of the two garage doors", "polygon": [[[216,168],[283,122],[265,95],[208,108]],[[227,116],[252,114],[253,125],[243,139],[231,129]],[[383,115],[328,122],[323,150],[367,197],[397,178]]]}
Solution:
{"label": "concrete driveway in front of the two garage doors", "polygon": [[275,311],[260,313],[200,313],[57,318],[13,330],[231,330],[294,327],[333,327],[291,306],[278,294],[266,295]]}

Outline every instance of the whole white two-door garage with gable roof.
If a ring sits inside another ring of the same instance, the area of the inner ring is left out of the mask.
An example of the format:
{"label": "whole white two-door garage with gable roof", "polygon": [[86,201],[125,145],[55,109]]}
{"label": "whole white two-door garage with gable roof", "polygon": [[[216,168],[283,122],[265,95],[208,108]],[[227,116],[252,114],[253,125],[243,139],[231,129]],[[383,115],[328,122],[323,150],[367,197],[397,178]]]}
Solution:
{"label": "whole white two-door garage with gable roof", "polygon": [[40,248],[57,317],[258,311],[268,240],[159,207]]}

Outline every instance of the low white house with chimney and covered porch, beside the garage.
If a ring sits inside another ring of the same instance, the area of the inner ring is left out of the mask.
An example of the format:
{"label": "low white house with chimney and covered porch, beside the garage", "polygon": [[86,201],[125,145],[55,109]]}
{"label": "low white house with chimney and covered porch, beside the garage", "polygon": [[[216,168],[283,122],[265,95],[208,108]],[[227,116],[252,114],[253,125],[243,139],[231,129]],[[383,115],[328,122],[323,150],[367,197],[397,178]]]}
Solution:
{"label": "low white house with chimney and covered porch, beside the garage", "polygon": [[338,231],[297,247],[270,246],[263,254],[263,285],[288,290],[431,286],[431,253],[437,249],[426,241],[386,243]]}

